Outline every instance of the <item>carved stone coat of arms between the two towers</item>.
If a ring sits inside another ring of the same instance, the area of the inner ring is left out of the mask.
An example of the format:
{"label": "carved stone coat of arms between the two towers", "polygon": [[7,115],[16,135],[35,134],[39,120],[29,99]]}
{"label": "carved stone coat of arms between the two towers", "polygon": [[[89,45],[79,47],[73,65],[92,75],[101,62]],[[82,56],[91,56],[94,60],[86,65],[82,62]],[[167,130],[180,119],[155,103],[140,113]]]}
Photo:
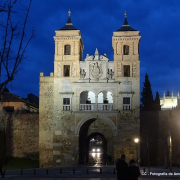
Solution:
{"label": "carved stone coat of arms between the two towers", "polygon": [[90,64],[91,75],[97,80],[102,76],[102,64],[98,65],[98,62]]}

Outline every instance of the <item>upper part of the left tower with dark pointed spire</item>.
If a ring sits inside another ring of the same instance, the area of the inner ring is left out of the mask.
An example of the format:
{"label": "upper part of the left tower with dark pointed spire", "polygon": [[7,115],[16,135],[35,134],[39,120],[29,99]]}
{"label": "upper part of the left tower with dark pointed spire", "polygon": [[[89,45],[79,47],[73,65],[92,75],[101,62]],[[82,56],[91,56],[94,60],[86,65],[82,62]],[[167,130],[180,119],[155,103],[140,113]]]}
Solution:
{"label": "upper part of the left tower with dark pointed spire", "polygon": [[71,22],[71,12],[66,25],[55,31],[54,77],[78,78],[79,61],[84,49],[80,30]]}

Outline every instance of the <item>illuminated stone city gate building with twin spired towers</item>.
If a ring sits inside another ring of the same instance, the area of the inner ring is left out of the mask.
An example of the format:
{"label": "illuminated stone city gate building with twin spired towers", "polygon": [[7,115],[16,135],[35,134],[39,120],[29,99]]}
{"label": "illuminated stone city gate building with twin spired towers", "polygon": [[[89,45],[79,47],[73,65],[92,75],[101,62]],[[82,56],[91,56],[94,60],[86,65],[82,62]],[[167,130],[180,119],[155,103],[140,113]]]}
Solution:
{"label": "illuminated stone city gate building with twin spired towers", "polygon": [[[127,23],[113,33],[114,61],[87,54],[80,30],[70,15],[55,31],[54,73],[40,73],[40,166],[88,163],[87,141],[93,133],[107,141],[113,159],[125,153],[136,158],[139,148],[140,62],[139,31]],[[95,126],[94,126],[95,124]]]}

